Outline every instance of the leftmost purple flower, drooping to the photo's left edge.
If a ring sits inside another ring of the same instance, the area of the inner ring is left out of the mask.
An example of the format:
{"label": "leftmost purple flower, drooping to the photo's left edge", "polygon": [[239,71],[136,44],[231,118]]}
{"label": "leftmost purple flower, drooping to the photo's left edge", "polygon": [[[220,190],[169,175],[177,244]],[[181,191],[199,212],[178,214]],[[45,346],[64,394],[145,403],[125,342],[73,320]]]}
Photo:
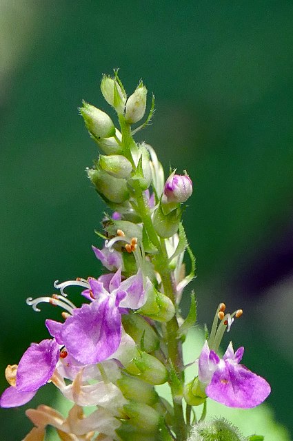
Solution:
{"label": "leftmost purple flower, drooping to the photo's left edge", "polygon": [[0,406],[16,407],[30,401],[37,390],[50,380],[58,360],[59,345],[56,340],[32,343],[19,362],[15,386],[3,392]]}

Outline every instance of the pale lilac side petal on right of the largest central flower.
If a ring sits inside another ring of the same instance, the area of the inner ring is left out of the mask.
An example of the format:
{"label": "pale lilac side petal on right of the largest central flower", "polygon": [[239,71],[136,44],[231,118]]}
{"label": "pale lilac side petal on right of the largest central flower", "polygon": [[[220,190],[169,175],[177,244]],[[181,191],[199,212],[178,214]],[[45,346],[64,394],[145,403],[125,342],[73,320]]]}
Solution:
{"label": "pale lilac side petal on right of the largest central flower", "polygon": [[127,296],[120,302],[121,307],[139,309],[145,304],[145,290],[143,289],[143,274],[141,270],[135,276],[124,280],[119,289],[126,291]]}

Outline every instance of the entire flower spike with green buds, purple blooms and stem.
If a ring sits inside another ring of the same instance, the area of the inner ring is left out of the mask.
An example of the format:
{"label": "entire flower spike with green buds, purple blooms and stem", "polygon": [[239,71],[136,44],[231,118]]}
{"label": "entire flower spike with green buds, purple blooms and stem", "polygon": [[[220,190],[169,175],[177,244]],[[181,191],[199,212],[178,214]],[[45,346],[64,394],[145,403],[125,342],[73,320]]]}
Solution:
{"label": "entire flower spike with green buds, purple blooms and stem", "polygon": [[[190,433],[192,406],[203,404],[201,420],[208,397],[229,407],[254,407],[265,400],[270,386],[239,364],[242,347],[234,353],[230,343],[220,358],[223,334],[242,314],[225,314],[222,303],[197,360],[198,376],[185,384],[182,343],[196,320],[196,302],[192,296],[183,320],[179,302],[195,265],[181,217],[192,181],[176,170],[165,180],[153,148],[135,143],[133,135],[154,111],[153,98],[146,120],[132,127],[145,114],[142,82],[127,97],[115,72],[114,78],[103,76],[101,92],[116,110],[120,130],[93,105],[83,103],[80,113],[102,152],[88,177],[111,210],[99,233],[103,247],[92,247],[104,271],[97,278],[57,280],[57,294],[27,299],[34,311],[41,302],[57,305],[63,309],[61,321],[47,319],[50,338],[32,343],[19,365],[7,367],[10,387],[0,405],[26,404],[52,382],[72,409],[67,418],[46,405],[28,409],[34,428],[27,441],[44,440],[48,424],[61,440],[183,441]],[[190,274],[183,263],[186,251]],[[80,288],[81,306],[70,299],[72,286]],[[172,404],[155,388],[165,382]],[[97,409],[85,417],[83,407],[88,406]]]}

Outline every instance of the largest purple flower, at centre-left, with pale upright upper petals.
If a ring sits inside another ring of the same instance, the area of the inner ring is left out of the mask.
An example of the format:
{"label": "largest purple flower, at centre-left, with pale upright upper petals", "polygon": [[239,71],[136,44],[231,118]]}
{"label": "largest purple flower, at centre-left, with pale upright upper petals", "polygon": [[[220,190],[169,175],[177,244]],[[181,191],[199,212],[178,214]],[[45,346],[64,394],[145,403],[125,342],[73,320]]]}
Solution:
{"label": "largest purple flower, at centre-left, with pale upright upper petals", "polygon": [[83,296],[91,300],[89,305],[73,309],[63,324],[46,320],[46,326],[78,362],[93,365],[117,351],[125,308],[139,309],[144,304],[143,275],[139,271],[121,282],[120,268],[111,278],[90,278]]}

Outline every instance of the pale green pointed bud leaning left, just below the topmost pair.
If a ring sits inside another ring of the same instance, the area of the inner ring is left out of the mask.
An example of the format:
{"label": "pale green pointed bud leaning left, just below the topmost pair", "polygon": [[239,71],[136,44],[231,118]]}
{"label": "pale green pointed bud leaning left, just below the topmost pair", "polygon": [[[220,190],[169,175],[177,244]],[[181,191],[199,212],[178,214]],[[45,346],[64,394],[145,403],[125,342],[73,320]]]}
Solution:
{"label": "pale green pointed bud leaning left, just below the topmost pair", "polygon": [[110,116],[102,110],[97,109],[94,105],[90,105],[83,101],[83,107],[79,108],[81,116],[83,116],[85,126],[95,138],[110,138],[114,136],[115,127]]}

